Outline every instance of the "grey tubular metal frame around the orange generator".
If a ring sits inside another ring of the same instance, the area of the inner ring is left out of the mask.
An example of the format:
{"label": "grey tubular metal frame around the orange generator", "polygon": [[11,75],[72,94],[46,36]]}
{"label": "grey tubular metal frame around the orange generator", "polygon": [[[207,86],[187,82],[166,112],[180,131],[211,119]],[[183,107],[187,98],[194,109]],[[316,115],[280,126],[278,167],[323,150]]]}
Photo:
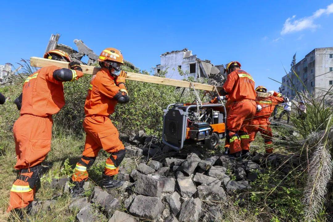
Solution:
{"label": "grey tubular metal frame around the orange generator", "polygon": [[[173,104],[169,104],[167,105],[166,109],[163,110],[164,111],[164,116],[166,115],[166,112],[168,111],[168,109],[171,107],[171,106],[175,106],[175,105],[178,105],[176,103],[173,103]],[[191,108],[196,108],[197,105],[189,105],[187,106],[185,112],[184,112],[184,115],[183,115],[183,122],[187,122],[187,116],[188,116],[188,110],[191,109]],[[226,110],[225,110],[225,106],[223,104],[203,104],[203,105],[199,105],[199,108],[202,108],[202,107],[223,107],[223,111],[224,111],[224,117],[223,117],[223,122],[226,126]],[[176,150],[176,151],[179,151],[180,149],[183,148],[183,145],[184,145],[184,140],[185,140],[185,137],[186,137],[186,125],[183,124],[183,128],[181,130],[181,140],[180,140],[180,146],[177,147],[177,146],[174,146],[168,142],[166,142],[165,140],[165,137],[164,137],[164,128],[165,128],[165,118],[163,117],[163,128],[162,128],[162,142],[168,146],[170,146],[172,149]],[[223,138],[225,137],[226,135],[226,130],[224,131],[223,133]]]}

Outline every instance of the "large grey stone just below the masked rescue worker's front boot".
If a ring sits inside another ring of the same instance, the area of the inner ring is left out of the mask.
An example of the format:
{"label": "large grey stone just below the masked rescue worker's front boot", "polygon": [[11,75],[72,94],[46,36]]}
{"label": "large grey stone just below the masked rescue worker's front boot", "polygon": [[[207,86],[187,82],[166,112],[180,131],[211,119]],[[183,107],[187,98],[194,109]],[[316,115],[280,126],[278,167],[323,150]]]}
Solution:
{"label": "large grey stone just below the masked rescue worker's front boot", "polygon": [[107,213],[111,213],[111,211],[115,210],[119,205],[119,200],[114,198],[111,194],[104,191],[102,188],[95,186],[94,190],[91,194],[92,198],[90,200],[91,203],[98,204],[103,211]]}

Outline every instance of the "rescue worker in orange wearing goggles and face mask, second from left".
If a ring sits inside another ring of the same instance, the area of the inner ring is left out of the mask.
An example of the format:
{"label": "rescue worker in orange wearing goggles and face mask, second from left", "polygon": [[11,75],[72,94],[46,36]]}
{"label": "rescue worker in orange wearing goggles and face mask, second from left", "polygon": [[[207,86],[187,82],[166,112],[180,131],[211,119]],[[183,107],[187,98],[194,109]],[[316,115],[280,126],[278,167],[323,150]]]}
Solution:
{"label": "rescue worker in orange wearing goggles and face mask, second from left", "polygon": [[117,188],[124,182],[113,179],[125,157],[125,147],[119,139],[118,130],[109,118],[117,103],[129,102],[125,87],[127,72],[121,70],[124,58],[119,50],[107,48],[101,52],[98,61],[101,70],[93,76],[85,102],[86,117],[83,127],[86,131],[86,143],[82,158],[76,164],[72,175],[75,184],[71,189],[73,197],[84,192],[83,185],[88,179],[87,170],[93,165],[100,149],[110,153],[102,174],[103,187]]}

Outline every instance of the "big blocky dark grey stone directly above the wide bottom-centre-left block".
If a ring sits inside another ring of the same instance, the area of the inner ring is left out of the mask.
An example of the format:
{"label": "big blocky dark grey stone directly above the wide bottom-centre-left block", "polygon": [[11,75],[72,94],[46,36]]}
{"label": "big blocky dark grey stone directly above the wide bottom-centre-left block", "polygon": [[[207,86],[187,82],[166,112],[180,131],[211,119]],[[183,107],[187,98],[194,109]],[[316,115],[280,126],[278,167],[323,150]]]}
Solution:
{"label": "big blocky dark grey stone directly above the wide bottom-centre-left block", "polygon": [[161,197],[164,182],[159,181],[151,175],[139,175],[134,192],[146,196]]}

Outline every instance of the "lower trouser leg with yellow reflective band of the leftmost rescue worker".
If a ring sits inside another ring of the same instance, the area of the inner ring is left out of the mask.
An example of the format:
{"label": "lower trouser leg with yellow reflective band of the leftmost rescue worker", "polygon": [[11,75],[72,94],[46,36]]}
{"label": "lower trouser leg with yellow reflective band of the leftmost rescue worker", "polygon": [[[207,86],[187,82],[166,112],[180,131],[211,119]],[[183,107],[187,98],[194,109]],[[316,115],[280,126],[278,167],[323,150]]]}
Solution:
{"label": "lower trouser leg with yellow reflective band of the leftmost rescue worker", "polygon": [[7,212],[29,205],[34,200],[35,188],[31,188],[28,182],[16,179],[9,194],[9,206]]}

